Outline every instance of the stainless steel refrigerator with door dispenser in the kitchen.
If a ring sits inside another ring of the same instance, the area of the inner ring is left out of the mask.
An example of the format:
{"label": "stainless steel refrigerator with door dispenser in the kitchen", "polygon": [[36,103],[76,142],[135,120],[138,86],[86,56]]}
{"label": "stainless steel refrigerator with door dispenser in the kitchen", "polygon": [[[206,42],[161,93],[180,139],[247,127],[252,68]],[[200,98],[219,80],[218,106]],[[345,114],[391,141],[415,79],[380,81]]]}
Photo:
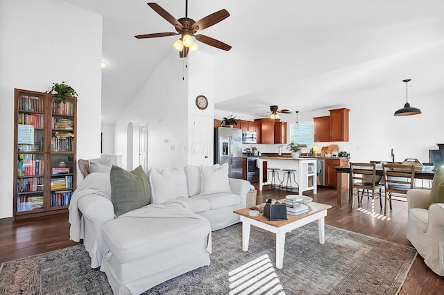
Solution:
{"label": "stainless steel refrigerator with door dispenser in the kitchen", "polygon": [[242,130],[214,128],[214,163],[228,163],[228,177],[242,179]]}

